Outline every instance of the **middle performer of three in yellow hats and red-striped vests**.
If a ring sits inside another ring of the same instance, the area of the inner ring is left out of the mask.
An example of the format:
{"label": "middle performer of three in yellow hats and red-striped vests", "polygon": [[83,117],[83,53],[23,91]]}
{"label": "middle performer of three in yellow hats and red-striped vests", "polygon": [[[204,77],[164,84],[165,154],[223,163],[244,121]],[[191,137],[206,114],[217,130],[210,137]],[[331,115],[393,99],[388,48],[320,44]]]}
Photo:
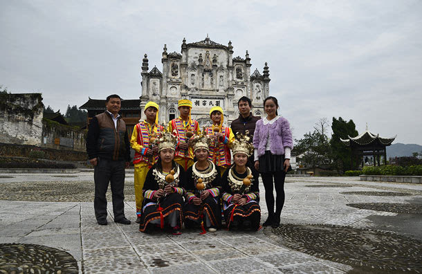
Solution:
{"label": "middle performer of three in yellow hats and red-striped vests", "polygon": [[179,141],[174,152],[174,161],[181,165],[185,171],[194,164],[194,152],[192,149],[192,136],[199,134],[199,124],[192,120],[190,112],[192,102],[190,100],[178,100],[178,111],[181,116],[169,122],[168,130],[175,134]]}

